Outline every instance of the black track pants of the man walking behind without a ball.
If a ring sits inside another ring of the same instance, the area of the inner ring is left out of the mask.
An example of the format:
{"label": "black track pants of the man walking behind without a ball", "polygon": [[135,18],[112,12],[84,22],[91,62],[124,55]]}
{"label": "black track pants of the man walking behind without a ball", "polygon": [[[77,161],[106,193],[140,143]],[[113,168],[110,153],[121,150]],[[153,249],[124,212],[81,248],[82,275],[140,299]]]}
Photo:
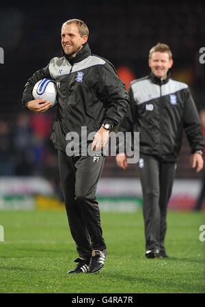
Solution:
{"label": "black track pants of the man walking behind without a ball", "polygon": [[139,176],[143,192],[146,250],[165,251],[167,205],[172,193],[176,163],[141,155]]}

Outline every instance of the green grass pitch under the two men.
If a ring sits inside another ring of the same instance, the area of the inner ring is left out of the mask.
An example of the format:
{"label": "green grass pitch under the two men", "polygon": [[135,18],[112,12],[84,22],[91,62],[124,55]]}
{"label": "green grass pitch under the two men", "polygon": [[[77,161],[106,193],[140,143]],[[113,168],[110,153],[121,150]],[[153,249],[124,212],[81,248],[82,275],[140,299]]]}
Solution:
{"label": "green grass pitch under the two men", "polygon": [[204,293],[204,213],[169,211],[169,258],[144,257],[143,219],[101,213],[108,248],[96,274],[68,275],[77,258],[65,211],[1,211],[0,293]]}

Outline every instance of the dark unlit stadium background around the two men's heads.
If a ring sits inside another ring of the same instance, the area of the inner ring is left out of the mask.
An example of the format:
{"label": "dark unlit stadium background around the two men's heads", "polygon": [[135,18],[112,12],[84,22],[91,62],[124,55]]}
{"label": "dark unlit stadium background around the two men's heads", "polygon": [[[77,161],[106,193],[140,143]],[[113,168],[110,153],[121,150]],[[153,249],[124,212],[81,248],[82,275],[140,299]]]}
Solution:
{"label": "dark unlit stadium background around the two men's heads", "polygon": [[[191,81],[197,105],[204,103],[204,80],[199,50],[205,42],[203,1],[59,1],[56,3],[1,4],[1,109],[20,110],[23,85],[32,73],[61,55],[60,31],[64,21],[80,18],[90,29],[92,53],[115,67],[128,65],[136,77],[148,73],[148,51],[157,42],[168,44],[174,68]],[[187,76],[186,73],[187,72]],[[12,91],[12,95],[11,95]]]}

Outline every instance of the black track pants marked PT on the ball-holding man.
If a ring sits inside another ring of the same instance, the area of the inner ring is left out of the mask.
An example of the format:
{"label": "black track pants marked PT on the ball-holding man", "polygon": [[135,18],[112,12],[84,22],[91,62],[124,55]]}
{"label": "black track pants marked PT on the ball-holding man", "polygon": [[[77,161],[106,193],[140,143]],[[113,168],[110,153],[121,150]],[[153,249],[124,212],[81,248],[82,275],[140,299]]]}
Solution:
{"label": "black track pants marked PT on the ball-holding man", "polygon": [[68,157],[59,150],[59,174],[72,238],[82,258],[90,258],[92,250],[105,250],[96,200],[98,179],[105,157]]}

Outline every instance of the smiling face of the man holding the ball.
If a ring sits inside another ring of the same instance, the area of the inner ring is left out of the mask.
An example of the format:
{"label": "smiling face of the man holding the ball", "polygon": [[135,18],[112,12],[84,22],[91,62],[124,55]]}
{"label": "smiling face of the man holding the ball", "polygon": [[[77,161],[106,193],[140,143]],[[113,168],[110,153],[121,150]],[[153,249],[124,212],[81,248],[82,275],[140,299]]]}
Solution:
{"label": "smiling face of the man holding the ball", "polygon": [[87,35],[81,36],[75,23],[70,23],[62,27],[61,46],[69,57],[75,57],[85,42],[87,42]]}

